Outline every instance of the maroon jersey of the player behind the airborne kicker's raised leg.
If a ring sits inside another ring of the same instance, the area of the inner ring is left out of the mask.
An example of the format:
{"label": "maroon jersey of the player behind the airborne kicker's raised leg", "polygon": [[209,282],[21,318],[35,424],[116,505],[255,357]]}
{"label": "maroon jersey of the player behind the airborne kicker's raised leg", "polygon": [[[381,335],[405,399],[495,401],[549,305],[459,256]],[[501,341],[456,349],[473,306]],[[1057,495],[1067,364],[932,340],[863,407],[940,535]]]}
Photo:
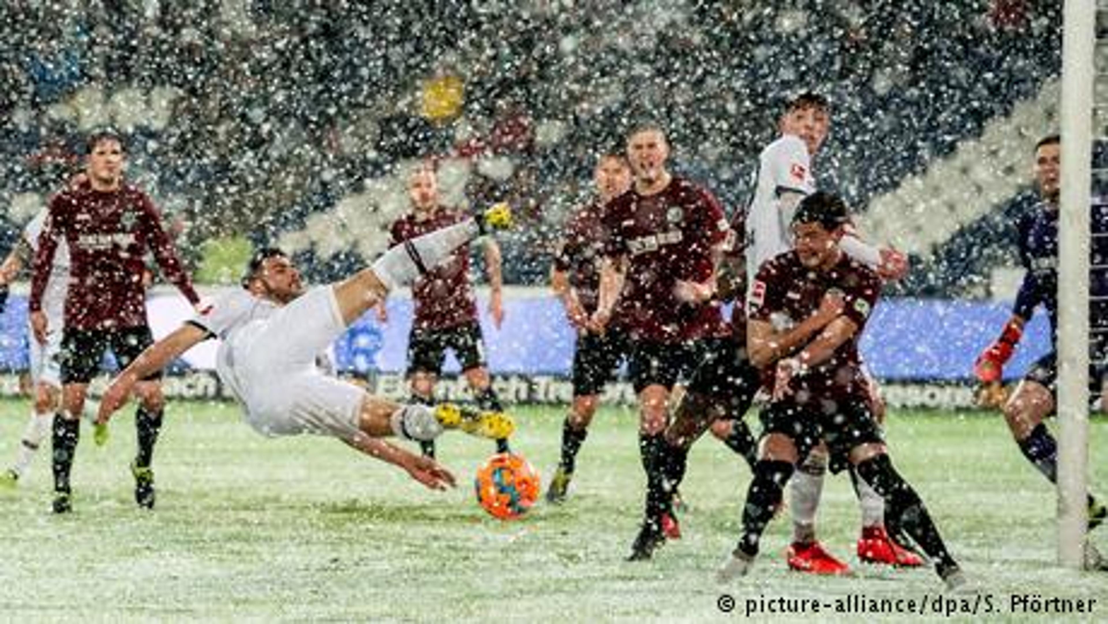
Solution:
{"label": "maroon jersey of the player behind the airborne kicker's raised leg", "polygon": [[[406,215],[392,224],[389,246],[466,218],[469,217],[460,211],[441,206],[428,217]],[[416,301],[413,323],[418,329],[445,329],[476,323],[478,304],[470,285],[470,246],[462,245],[448,259],[417,279],[412,285],[412,298]]]}

